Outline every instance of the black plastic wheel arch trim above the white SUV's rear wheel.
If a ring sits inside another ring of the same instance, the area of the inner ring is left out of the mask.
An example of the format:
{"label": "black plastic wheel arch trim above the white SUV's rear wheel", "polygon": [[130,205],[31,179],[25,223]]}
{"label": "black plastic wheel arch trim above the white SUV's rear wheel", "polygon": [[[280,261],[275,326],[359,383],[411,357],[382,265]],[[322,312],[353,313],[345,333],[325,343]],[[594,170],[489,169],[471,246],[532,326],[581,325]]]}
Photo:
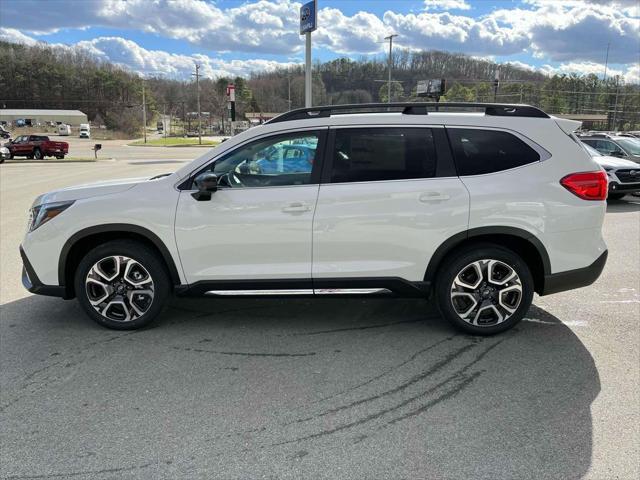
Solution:
{"label": "black plastic wheel arch trim above the white SUV's rear wheel", "polygon": [[535,291],[537,293],[543,291],[545,276],[551,274],[551,262],[547,249],[535,235],[517,227],[478,227],[449,237],[431,257],[424,276],[425,282],[433,285],[438,270],[447,256],[460,247],[474,243],[493,243],[513,250],[529,266]]}

